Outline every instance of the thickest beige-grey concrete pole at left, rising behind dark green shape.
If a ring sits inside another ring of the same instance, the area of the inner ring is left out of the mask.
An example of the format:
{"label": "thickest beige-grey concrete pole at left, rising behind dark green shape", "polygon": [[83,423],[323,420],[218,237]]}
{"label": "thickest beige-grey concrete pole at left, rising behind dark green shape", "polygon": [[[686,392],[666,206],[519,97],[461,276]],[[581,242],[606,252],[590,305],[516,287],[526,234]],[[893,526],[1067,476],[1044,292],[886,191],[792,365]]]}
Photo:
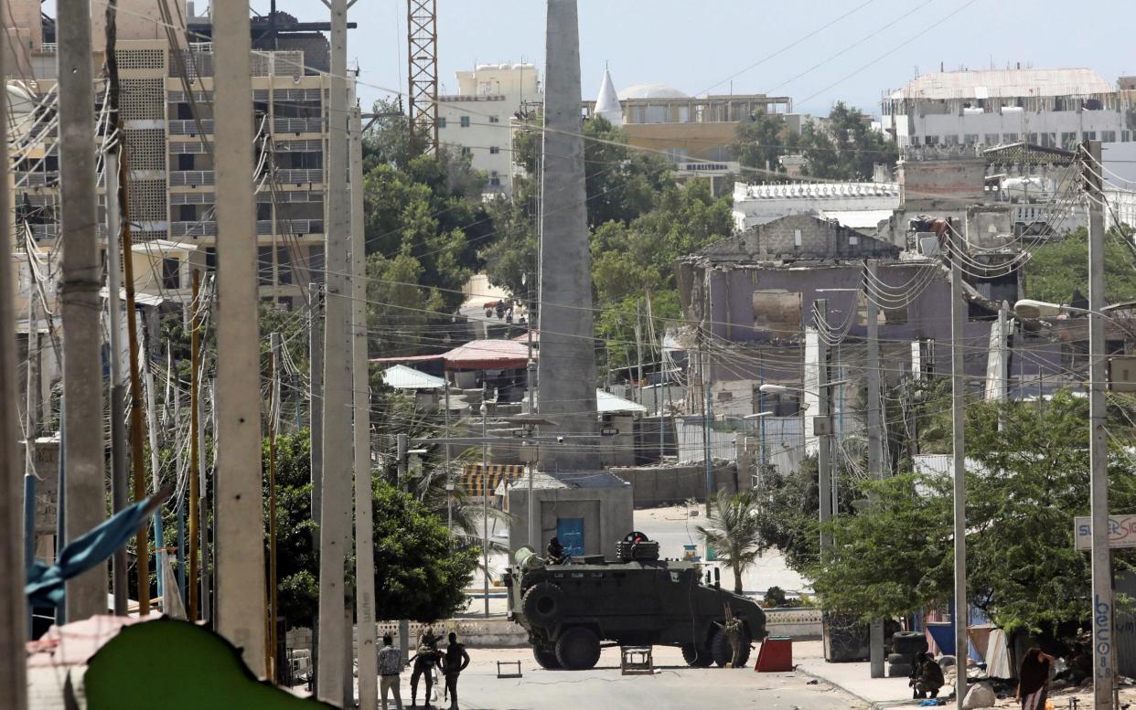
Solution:
{"label": "thickest beige-grey concrete pole at left, rising behind dark green shape", "polygon": [[215,2],[217,157],[216,628],[265,668],[257,213],[252,192],[252,43],[247,2]]}

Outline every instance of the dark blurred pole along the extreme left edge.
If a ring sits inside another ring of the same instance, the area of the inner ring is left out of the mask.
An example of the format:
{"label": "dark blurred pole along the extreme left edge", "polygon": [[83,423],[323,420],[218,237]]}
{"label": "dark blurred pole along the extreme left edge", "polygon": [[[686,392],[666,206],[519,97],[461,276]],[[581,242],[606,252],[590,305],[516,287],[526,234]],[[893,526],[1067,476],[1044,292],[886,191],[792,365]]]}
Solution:
{"label": "dark blurred pole along the extreme left edge", "polygon": [[[7,35],[2,35],[7,36]],[[7,43],[7,42],[5,42]],[[5,76],[3,56],[0,51],[0,76]],[[8,108],[0,101],[0,176],[8,185]],[[0,189],[0,234],[11,233],[9,192]],[[11,244],[0,239],[0,263],[11,263]],[[12,269],[0,273],[0,466],[5,471],[17,467],[16,397],[16,322],[12,313],[15,295]],[[32,323],[32,328],[35,324]],[[34,330],[33,330],[34,332]],[[60,457],[61,458],[61,457]],[[24,569],[23,535],[20,533],[20,483],[15,475],[2,476],[0,483],[0,569],[9,570],[0,582],[0,687],[7,688],[6,698],[11,710],[27,708],[27,598],[24,595],[24,576],[10,574]],[[106,601],[103,601],[106,603]]]}

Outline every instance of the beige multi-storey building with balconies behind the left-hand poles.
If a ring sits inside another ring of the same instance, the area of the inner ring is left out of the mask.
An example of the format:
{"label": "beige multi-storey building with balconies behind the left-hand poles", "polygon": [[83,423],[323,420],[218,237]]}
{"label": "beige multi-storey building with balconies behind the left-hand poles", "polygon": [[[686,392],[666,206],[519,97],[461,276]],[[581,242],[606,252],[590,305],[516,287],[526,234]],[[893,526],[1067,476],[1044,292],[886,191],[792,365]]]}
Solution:
{"label": "beige multi-storey building with balconies behind the left-hand poles", "polygon": [[[17,6],[27,2],[14,0]],[[143,287],[185,301],[191,263],[212,267],[217,243],[211,22],[193,16],[190,3],[187,29],[167,34],[148,14],[123,11],[136,2],[120,2],[116,45],[128,161],[126,212],[134,242],[150,245],[145,263],[161,264],[161,273],[143,279]],[[92,20],[100,17],[95,8]],[[37,96],[45,100],[36,126],[42,128],[43,159],[17,166],[16,197],[34,215],[30,227],[36,240],[47,245],[59,234],[57,132],[51,127],[50,98],[56,84],[53,23],[44,20],[40,33],[42,41],[26,33],[31,37],[26,66]],[[98,27],[94,36],[100,37]],[[328,42],[312,26],[283,12],[272,22],[258,22],[253,40],[260,295],[290,306],[306,298],[309,281],[323,280]],[[97,41],[94,49],[95,61],[102,64],[105,43]],[[97,116],[103,113],[106,91],[100,81]],[[100,136],[106,130],[102,125]],[[100,220],[101,212],[100,208]]]}

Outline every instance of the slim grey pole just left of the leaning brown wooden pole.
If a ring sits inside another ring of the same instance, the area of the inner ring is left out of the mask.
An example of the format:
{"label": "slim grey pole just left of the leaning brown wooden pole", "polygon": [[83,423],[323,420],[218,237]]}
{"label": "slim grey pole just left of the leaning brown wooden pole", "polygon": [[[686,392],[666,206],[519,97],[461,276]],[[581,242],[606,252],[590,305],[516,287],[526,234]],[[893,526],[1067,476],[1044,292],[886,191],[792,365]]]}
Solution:
{"label": "slim grey pole just left of the leaning brown wooden pole", "polygon": [[[103,158],[103,172],[107,185],[107,308],[110,312],[110,498],[111,507],[118,513],[130,505],[131,474],[126,460],[126,388],[123,384],[123,312],[119,303],[123,255],[118,243],[122,234],[118,223],[117,150],[107,152]],[[126,548],[115,550],[111,560],[111,589],[117,616],[126,616],[128,568]]]}

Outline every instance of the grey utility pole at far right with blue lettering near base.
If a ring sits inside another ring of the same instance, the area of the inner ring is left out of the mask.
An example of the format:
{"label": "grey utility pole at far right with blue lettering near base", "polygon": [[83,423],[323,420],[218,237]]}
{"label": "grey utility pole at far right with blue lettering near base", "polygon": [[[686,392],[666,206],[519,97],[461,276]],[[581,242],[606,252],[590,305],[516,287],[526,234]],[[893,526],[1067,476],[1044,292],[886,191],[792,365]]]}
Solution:
{"label": "grey utility pole at far right with blue lettering near base", "polygon": [[1089,510],[1093,535],[1093,708],[1112,708],[1112,551],[1109,549],[1109,432],[1104,398],[1104,194],[1101,142],[1085,141],[1081,171],[1088,197]]}

